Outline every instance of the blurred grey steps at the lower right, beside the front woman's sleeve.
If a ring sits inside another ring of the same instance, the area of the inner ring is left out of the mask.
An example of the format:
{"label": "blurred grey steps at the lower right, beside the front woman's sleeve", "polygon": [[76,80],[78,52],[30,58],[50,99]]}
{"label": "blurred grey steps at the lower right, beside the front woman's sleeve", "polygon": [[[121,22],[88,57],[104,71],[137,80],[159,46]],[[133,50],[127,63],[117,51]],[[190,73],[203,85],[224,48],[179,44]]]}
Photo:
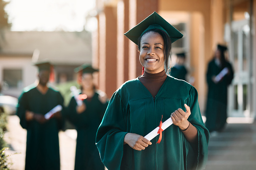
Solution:
{"label": "blurred grey steps at the lower right, beside the front woman's sleeve", "polygon": [[229,123],[213,132],[206,170],[256,169],[256,123]]}

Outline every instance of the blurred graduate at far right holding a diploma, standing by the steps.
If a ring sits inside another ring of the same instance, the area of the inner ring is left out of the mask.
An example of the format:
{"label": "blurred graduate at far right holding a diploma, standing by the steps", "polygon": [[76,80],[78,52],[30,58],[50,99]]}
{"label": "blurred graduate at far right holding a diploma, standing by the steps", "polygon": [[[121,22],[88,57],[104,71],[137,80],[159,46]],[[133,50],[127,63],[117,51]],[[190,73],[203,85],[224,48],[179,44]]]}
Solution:
{"label": "blurred graduate at far right holding a diploma, standing by the steps", "polygon": [[226,46],[217,45],[206,73],[208,96],[205,113],[206,127],[210,132],[221,131],[227,119],[227,87],[231,84],[234,72],[232,65],[225,59],[226,50]]}

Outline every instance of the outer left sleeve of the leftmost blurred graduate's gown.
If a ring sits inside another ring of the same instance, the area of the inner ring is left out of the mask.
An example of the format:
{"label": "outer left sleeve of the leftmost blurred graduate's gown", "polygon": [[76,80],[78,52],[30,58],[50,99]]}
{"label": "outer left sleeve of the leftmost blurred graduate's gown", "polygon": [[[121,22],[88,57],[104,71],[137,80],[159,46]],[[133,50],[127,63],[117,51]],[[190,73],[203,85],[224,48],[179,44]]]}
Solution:
{"label": "outer left sleeve of the leftmost blurred graduate's gown", "polygon": [[27,98],[26,98],[26,93],[23,92],[19,97],[16,115],[20,118],[20,124],[24,129],[27,129],[29,124],[25,117],[26,109],[27,109]]}

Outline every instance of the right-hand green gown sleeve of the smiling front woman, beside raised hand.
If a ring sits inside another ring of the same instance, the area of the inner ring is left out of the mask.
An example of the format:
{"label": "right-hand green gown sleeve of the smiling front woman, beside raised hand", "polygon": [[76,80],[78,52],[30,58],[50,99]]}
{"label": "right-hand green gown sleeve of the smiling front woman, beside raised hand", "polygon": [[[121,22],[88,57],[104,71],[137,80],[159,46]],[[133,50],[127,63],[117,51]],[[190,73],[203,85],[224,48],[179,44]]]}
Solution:
{"label": "right-hand green gown sleeve of the smiling front woman, beside raised hand", "polygon": [[198,143],[196,146],[193,147],[191,143],[185,139],[187,169],[204,169],[208,159],[209,131],[204,125],[198,104],[198,93],[193,86],[191,86],[189,97],[185,103],[190,106],[191,109],[191,115],[188,120],[198,131]]}

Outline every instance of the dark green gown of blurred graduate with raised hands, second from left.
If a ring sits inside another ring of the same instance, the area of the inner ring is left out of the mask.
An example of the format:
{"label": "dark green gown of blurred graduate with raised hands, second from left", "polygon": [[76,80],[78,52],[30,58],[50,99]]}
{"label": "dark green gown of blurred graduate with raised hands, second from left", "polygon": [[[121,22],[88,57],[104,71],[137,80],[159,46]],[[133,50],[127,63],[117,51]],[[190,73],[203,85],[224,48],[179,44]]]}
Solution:
{"label": "dark green gown of blurred graduate with raised hands, second from left", "polygon": [[75,170],[103,169],[104,164],[95,144],[97,129],[102,121],[108,102],[103,104],[99,100],[99,94],[88,100],[83,100],[86,110],[80,114],[76,112],[76,101],[71,98],[68,106],[67,119],[75,125],[77,130],[75,150]]}

